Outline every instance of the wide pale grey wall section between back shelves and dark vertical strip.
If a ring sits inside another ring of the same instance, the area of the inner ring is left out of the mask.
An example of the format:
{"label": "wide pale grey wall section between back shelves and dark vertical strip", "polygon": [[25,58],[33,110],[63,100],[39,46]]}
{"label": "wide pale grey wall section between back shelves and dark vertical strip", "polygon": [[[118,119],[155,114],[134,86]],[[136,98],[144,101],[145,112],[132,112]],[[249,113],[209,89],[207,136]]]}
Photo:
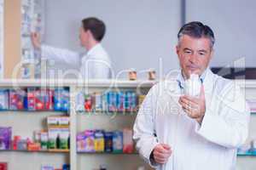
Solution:
{"label": "wide pale grey wall section between back shelves and dark vertical strip", "polygon": [[115,71],[158,70],[160,57],[168,71],[178,68],[174,49],[180,15],[179,0],[47,0],[45,42],[81,50],[80,20],[96,16],[107,25],[102,43]]}

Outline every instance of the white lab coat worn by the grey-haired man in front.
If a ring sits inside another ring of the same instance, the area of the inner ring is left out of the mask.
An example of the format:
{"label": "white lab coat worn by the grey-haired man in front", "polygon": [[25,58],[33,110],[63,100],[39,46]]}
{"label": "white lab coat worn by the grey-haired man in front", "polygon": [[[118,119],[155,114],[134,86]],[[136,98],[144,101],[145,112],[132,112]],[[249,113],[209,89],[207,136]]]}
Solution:
{"label": "white lab coat worn by the grey-haired man in front", "polygon": [[[230,80],[206,71],[203,81],[206,113],[201,125],[185,114],[178,99],[177,81],[154,85],[143,101],[134,124],[137,150],[161,170],[234,170],[236,149],[247,139],[250,111]],[[156,144],[169,144],[172,156],[164,165],[149,160]]]}

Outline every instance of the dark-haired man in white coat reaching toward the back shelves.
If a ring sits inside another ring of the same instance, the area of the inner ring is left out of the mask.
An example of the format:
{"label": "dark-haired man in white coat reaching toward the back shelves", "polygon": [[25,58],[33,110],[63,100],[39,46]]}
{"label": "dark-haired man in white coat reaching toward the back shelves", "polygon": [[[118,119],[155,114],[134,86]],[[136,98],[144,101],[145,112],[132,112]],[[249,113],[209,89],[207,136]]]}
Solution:
{"label": "dark-haired man in white coat reaching toward the back shelves", "polygon": [[93,17],[82,20],[79,39],[82,47],[87,50],[85,55],[41,45],[38,33],[32,33],[32,44],[34,48],[41,50],[43,58],[54,59],[80,68],[80,74],[84,78],[108,79],[111,77],[111,61],[101,44],[105,31],[106,26],[102,20]]}

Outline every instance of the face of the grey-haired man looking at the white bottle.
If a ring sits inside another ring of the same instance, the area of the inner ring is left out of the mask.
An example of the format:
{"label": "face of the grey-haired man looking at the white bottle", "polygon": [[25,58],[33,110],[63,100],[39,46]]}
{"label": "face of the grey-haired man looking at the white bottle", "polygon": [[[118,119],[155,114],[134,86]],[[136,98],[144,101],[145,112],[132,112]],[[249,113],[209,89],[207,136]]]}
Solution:
{"label": "face of the grey-haired man looking at the white bottle", "polygon": [[186,78],[195,73],[201,76],[212,59],[210,39],[183,35],[177,45],[179,64]]}

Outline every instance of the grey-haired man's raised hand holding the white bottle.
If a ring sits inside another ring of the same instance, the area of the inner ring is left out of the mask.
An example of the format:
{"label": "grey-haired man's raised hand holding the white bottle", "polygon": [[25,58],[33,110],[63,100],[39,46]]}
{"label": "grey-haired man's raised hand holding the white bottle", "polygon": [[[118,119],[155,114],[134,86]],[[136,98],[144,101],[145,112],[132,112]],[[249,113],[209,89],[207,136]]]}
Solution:
{"label": "grey-haired man's raised hand holding the white bottle", "polygon": [[201,86],[201,94],[199,97],[184,95],[179,98],[178,102],[182,105],[183,111],[185,111],[189,117],[201,124],[206,112],[206,99],[203,85]]}

